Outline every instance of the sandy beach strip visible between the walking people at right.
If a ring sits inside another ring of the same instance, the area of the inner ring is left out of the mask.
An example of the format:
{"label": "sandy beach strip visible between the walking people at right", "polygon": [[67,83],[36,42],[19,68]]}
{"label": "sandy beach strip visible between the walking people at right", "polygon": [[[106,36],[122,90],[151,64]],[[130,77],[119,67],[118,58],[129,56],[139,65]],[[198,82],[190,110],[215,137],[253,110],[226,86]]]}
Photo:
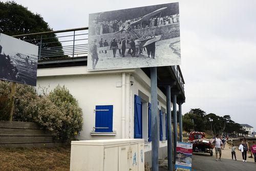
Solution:
{"label": "sandy beach strip visible between the walking people at right", "polygon": [[[231,147],[231,146],[226,143],[225,149],[222,150],[221,158],[230,159],[230,160],[232,159],[231,149],[229,147]],[[238,147],[236,149],[236,156],[237,156],[237,160],[243,161],[242,153],[238,150]],[[250,156],[250,153],[247,153],[247,162],[254,162],[254,158],[248,158],[249,156]],[[214,157],[215,157],[215,149],[214,149]]]}

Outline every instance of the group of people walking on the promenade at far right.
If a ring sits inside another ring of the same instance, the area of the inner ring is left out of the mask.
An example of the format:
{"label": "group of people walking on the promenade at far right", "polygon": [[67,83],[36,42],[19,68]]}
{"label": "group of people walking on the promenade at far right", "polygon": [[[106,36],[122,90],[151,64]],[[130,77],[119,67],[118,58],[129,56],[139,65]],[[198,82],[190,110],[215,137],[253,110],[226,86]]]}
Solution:
{"label": "group of people walking on the promenade at far right", "polygon": [[[225,139],[225,137],[221,137],[219,134],[216,135],[216,137],[213,139],[212,143],[215,144],[215,152],[216,152],[216,161],[218,161],[218,154],[219,154],[219,160],[221,161],[221,154],[222,154],[222,149],[225,149],[225,144],[226,141],[224,141],[223,139]],[[226,140],[226,139],[225,139]],[[234,146],[234,144],[231,144],[231,158],[232,160],[237,160],[237,156],[236,156],[236,146]],[[246,138],[243,138],[241,144],[238,147],[239,151],[242,153],[242,157],[243,157],[243,162],[247,162],[247,152],[251,151],[251,158],[252,158],[252,154],[254,156],[254,162],[256,163],[256,144],[253,141],[252,145],[249,146]]]}

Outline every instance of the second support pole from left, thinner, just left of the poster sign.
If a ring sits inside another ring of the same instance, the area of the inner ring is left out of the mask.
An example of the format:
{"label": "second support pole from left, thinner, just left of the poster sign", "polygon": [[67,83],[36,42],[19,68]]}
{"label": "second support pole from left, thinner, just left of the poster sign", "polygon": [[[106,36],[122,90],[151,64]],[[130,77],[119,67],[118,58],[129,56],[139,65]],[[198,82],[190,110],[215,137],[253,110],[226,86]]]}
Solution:
{"label": "second support pole from left, thinner, just left of the poster sign", "polygon": [[173,140],[172,140],[172,113],[170,106],[170,86],[166,88],[166,106],[167,106],[167,152],[168,152],[168,170],[173,171]]}

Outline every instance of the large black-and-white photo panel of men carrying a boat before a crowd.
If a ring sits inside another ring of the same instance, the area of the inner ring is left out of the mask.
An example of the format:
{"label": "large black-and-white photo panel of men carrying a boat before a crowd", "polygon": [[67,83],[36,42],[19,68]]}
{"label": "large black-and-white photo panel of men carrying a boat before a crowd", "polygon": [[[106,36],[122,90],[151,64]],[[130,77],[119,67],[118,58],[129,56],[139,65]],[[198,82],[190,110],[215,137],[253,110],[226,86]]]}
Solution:
{"label": "large black-and-white photo panel of men carrying a boat before a crowd", "polygon": [[179,3],[89,15],[88,70],[181,64]]}

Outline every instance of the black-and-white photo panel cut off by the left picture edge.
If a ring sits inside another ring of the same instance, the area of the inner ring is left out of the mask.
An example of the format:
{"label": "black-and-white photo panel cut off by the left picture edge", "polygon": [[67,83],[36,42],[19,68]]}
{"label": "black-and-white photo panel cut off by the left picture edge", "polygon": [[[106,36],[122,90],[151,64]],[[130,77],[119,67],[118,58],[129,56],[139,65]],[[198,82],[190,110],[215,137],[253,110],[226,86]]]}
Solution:
{"label": "black-and-white photo panel cut off by the left picture edge", "polygon": [[36,86],[38,47],[0,34],[0,79]]}

